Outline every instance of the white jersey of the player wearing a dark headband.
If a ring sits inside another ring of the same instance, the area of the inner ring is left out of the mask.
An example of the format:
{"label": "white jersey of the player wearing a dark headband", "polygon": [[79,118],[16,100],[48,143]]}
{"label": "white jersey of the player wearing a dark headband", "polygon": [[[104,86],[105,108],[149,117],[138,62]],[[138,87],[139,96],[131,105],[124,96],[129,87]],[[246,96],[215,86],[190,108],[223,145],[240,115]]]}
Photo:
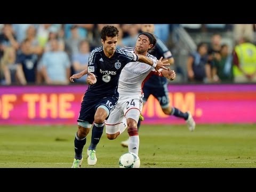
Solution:
{"label": "white jersey of the player wearing a dark headband", "polygon": [[[134,47],[122,47],[121,50],[134,52]],[[156,57],[147,53],[146,57],[157,60]],[[142,82],[155,68],[143,62],[129,62],[121,71],[118,84],[119,95],[139,95],[142,93]]]}

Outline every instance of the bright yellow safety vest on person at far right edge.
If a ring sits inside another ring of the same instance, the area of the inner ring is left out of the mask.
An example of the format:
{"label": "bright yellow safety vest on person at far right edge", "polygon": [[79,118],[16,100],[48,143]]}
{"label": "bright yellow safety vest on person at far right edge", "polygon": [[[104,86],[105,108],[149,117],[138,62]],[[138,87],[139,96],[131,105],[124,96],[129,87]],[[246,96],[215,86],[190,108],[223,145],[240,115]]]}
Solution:
{"label": "bright yellow safety vest on person at far right edge", "polygon": [[[242,43],[235,46],[239,60],[239,66],[247,73],[252,74],[256,70],[256,46],[252,43]],[[233,66],[234,77],[242,76],[242,72],[236,65]]]}

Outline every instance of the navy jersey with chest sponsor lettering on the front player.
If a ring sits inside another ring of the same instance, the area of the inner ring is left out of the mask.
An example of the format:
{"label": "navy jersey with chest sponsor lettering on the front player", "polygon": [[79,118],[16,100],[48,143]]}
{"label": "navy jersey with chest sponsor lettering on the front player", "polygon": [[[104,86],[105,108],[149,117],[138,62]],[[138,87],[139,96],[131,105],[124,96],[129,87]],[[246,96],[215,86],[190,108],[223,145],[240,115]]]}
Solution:
{"label": "navy jersey with chest sponsor lettering on the front player", "polygon": [[85,95],[87,98],[119,97],[117,92],[119,76],[124,66],[138,61],[134,53],[116,49],[113,57],[106,57],[103,47],[95,48],[89,55],[88,72],[97,77],[94,85],[89,85]]}

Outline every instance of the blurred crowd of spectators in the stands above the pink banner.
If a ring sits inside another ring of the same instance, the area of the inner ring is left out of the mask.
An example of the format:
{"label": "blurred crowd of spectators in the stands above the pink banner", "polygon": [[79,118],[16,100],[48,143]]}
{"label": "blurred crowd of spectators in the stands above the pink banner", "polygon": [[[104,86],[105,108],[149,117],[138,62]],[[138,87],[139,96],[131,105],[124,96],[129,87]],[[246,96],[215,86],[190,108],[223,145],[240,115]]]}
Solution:
{"label": "blurred crowd of spectators in the stands above the pink banner", "polygon": [[[105,25],[0,24],[0,85],[69,84],[102,45]],[[118,46],[134,47],[140,24],[114,25]],[[169,83],[255,83],[255,31],[255,24],[155,24],[154,34],[175,60]]]}

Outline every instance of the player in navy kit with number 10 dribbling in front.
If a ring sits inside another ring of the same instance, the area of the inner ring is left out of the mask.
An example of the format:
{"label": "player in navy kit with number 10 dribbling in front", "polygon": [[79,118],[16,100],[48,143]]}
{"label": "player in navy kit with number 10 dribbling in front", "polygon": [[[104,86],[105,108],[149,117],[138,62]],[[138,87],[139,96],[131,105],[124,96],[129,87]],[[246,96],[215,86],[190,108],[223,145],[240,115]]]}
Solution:
{"label": "player in navy kit with number 10 dribbling in front", "polygon": [[[73,168],[81,167],[83,161],[83,147],[86,143],[86,136],[92,126],[91,145],[87,150],[87,163],[97,163],[95,148],[100,141],[105,125],[111,110],[114,109],[119,94],[117,92],[118,80],[121,70],[131,61],[141,61],[156,69],[164,68],[169,63],[164,61],[151,60],[144,55],[137,55],[116,49],[118,29],[114,26],[105,26],[101,30],[101,43],[103,46],[95,48],[89,56],[87,83],[90,84],[85,92],[79,117],[77,119],[78,131],[75,135],[75,158]],[[83,71],[80,73],[83,75]],[[97,80],[92,82],[90,76],[94,74]],[[75,78],[71,76],[70,79]]]}

